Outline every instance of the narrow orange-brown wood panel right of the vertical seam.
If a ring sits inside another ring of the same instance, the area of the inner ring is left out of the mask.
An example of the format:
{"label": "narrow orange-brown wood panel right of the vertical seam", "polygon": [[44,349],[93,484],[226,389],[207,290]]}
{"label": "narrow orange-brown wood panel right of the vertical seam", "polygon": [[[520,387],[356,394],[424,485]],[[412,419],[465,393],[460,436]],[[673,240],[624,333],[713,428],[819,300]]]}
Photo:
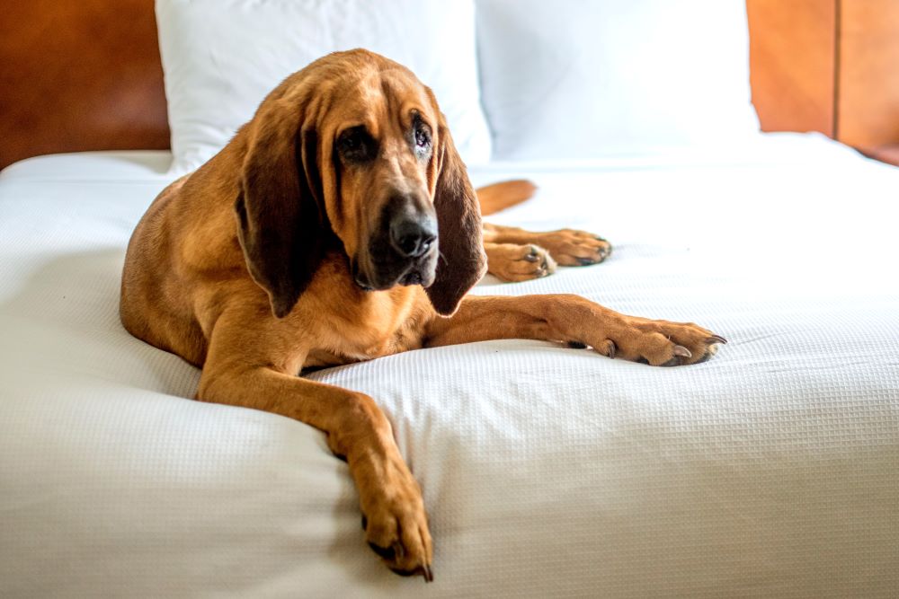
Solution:
{"label": "narrow orange-brown wood panel right of the vertical seam", "polygon": [[837,137],[863,148],[899,142],[899,1],[841,3]]}

